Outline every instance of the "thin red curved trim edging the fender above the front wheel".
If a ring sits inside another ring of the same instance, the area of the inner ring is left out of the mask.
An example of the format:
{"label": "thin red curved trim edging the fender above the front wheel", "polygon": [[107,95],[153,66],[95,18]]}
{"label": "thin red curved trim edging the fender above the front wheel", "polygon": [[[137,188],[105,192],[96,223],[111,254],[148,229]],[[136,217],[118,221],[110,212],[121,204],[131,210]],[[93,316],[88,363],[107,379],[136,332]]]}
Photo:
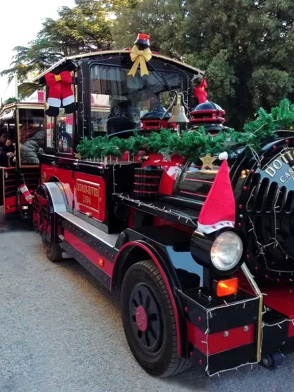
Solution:
{"label": "thin red curved trim edging the fender above the front wheel", "polygon": [[180,323],[179,323],[179,316],[178,316],[178,311],[177,311],[177,307],[175,304],[175,300],[174,300],[174,296],[172,294],[172,289],[168,280],[167,275],[165,274],[163,268],[161,267],[161,264],[159,263],[159,261],[157,260],[157,258],[155,257],[155,255],[153,254],[152,250],[145,244],[137,242],[137,241],[130,241],[126,244],[124,244],[120,250],[119,253],[117,254],[115,260],[114,260],[114,264],[116,264],[116,262],[119,260],[120,254],[123,251],[124,248],[126,248],[127,246],[139,246],[142,249],[144,249],[146,251],[146,253],[148,253],[148,255],[151,257],[152,261],[154,262],[154,264],[156,265],[156,267],[158,268],[161,276],[163,277],[163,280],[166,284],[168,293],[170,295],[171,298],[171,302],[172,302],[172,309],[174,312],[174,319],[175,319],[175,327],[176,327],[176,337],[177,337],[177,349],[178,349],[178,355],[181,355],[182,352],[182,348],[181,348],[181,332],[180,332]]}

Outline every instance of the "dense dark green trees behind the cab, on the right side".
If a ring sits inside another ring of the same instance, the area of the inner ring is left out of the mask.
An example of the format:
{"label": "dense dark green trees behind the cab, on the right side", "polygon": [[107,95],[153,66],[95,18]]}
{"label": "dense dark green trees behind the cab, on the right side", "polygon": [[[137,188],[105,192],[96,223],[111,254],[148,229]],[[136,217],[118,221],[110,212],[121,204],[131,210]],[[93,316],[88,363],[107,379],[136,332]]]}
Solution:
{"label": "dense dark green trees behind the cab, on the right side", "polygon": [[[230,126],[240,129],[260,106],[269,109],[282,98],[293,100],[293,1],[151,3],[142,0],[131,11],[122,11],[114,40],[129,45],[143,26],[151,33],[152,49],[204,70],[208,98],[226,110]],[[160,23],[161,14],[170,17],[170,23]]]}

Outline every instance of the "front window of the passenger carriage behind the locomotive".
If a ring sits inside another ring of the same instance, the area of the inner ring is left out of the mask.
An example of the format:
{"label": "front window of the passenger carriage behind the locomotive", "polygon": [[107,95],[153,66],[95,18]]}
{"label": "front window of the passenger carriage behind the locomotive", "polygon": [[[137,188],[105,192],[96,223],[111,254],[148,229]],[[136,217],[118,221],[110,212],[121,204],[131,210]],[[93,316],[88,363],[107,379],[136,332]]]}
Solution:
{"label": "front window of the passenger carriage behind the locomotive", "polygon": [[46,147],[44,109],[20,108],[18,124],[19,157],[21,165],[39,165],[39,153]]}

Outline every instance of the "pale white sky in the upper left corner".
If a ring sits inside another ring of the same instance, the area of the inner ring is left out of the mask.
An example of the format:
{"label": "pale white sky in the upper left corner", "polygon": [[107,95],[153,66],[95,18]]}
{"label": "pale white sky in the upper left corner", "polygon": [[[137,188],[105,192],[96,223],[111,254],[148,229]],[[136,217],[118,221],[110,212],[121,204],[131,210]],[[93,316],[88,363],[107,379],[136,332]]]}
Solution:
{"label": "pale white sky in the upper left corner", "polygon": [[[16,46],[26,46],[42,28],[44,18],[56,19],[61,6],[73,7],[73,0],[15,0],[0,1],[0,71],[10,67]],[[4,101],[15,95],[15,84],[7,88],[7,78],[0,77],[0,98]],[[6,90],[6,91],[5,91]]]}

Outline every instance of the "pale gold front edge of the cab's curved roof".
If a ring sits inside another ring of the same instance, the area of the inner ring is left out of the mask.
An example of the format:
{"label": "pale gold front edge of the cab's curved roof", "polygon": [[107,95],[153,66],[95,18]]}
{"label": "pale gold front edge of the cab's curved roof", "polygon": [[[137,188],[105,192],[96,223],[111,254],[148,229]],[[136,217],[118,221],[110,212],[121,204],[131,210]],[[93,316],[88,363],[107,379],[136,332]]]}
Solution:
{"label": "pale gold front edge of the cab's curved roof", "polygon": [[[67,56],[67,57],[64,57],[61,60],[57,61],[55,64],[53,64],[46,71],[40,73],[38,76],[36,76],[33,79],[33,81],[36,81],[36,80],[40,79],[42,76],[44,76],[48,72],[52,72],[55,68],[59,67],[60,65],[62,65],[66,61],[78,60],[78,59],[81,59],[81,58],[84,58],[84,57],[94,57],[94,56],[103,55],[103,54],[121,54],[121,53],[130,53],[130,50],[126,50],[126,49],[123,49],[123,50],[101,50],[101,51],[97,51],[97,52],[90,52],[90,53],[76,54],[74,56]],[[186,63],[183,63],[182,61],[173,59],[172,57],[163,56],[161,54],[154,53],[154,52],[152,52],[152,57],[163,59],[163,60],[166,60],[166,61],[170,61],[170,62],[178,64],[178,65],[180,65],[182,67],[188,68],[191,71],[194,71],[194,72],[196,72],[197,74],[200,74],[200,75],[204,74],[204,71],[201,71],[198,68],[192,67],[191,65],[188,65]]]}

